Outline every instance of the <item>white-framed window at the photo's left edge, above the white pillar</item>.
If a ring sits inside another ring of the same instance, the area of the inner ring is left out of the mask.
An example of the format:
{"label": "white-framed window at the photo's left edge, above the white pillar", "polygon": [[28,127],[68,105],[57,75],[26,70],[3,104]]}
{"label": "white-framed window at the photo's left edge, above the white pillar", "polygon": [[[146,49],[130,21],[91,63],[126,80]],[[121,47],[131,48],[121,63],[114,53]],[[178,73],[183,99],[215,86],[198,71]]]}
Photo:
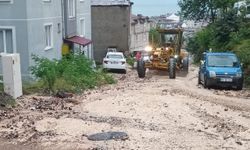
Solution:
{"label": "white-framed window at the photo's left edge, above the white pillar", "polygon": [[15,52],[15,37],[13,29],[0,28],[0,52]]}

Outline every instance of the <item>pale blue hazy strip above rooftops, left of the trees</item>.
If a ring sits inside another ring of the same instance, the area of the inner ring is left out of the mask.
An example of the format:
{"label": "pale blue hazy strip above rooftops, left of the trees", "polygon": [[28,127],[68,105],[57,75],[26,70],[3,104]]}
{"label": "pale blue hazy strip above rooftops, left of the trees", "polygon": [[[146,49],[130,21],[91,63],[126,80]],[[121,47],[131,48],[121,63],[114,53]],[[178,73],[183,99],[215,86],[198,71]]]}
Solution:
{"label": "pale blue hazy strip above rooftops, left of the trees", "polygon": [[144,16],[159,16],[166,13],[179,11],[177,0],[131,0],[133,14]]}

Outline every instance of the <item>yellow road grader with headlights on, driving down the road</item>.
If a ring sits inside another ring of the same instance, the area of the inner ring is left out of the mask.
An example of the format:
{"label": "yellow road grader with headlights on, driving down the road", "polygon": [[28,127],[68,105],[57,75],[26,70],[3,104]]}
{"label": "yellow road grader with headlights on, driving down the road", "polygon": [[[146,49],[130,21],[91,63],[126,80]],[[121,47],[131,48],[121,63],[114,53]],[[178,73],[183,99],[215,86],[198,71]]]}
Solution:
{"label": "yellow road grader with headlights on, driving down the road", "polygon": [[161,36],[160,47],[146,47],[141,59],[137,62],[139,78],[144,78],[146,69],[167,70],[170,79],[176,78],[176,70],[188,72],[188,53],[182,50],[183,29],[158,29]]}

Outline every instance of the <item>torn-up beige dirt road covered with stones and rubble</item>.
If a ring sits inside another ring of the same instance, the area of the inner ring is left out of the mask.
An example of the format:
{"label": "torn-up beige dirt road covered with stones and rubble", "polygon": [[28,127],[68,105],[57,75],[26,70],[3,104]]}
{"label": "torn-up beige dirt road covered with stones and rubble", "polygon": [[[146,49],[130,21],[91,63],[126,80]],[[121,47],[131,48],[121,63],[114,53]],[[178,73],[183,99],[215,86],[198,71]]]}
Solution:
{"label": "torn-up beige dirt road covered with stones and rubble", "polygon": [[[71,99],[28,96],[1,111],[5,149],[250,149],[250,92],[207,90],[197,68],[168,79],[166,72],[115,75],[117,85]],[[123,140],[90,141],[94,133],[121,131]],[[0,148],[1,149],[1,148]]]}

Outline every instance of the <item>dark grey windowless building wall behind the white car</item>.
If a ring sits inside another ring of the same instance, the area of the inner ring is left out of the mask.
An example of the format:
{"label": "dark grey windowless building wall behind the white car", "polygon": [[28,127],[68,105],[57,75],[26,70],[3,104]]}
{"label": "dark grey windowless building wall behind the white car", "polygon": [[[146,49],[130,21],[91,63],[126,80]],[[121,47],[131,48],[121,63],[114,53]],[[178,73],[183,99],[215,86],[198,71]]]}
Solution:
{"label": "dark grey windowless building wall behind the white car", "polygon": [[101,62],[108,47],[129,50],[130,6],[92,6],[92,40],[94,58]]}

